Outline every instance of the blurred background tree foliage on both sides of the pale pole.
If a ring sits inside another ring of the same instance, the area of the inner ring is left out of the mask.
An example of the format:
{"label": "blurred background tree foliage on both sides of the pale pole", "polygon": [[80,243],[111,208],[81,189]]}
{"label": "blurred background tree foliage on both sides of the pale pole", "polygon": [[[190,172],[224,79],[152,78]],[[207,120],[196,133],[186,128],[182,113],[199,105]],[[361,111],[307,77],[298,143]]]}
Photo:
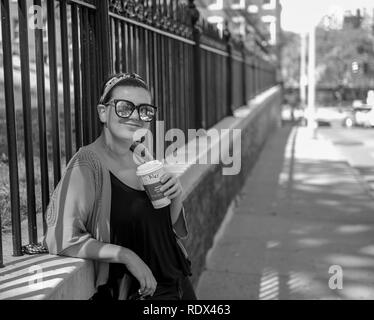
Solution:
{"label": "blurred background tree foliage on both sides of the pale pole", "polygon": [[[298,87],[300,36],[283,34],[282,68],[286,87]],[[356,63],[357,69],[352,68]],[[366,29],[316,32],[316,76],[318,87],[374,86],[374,37]]]}

